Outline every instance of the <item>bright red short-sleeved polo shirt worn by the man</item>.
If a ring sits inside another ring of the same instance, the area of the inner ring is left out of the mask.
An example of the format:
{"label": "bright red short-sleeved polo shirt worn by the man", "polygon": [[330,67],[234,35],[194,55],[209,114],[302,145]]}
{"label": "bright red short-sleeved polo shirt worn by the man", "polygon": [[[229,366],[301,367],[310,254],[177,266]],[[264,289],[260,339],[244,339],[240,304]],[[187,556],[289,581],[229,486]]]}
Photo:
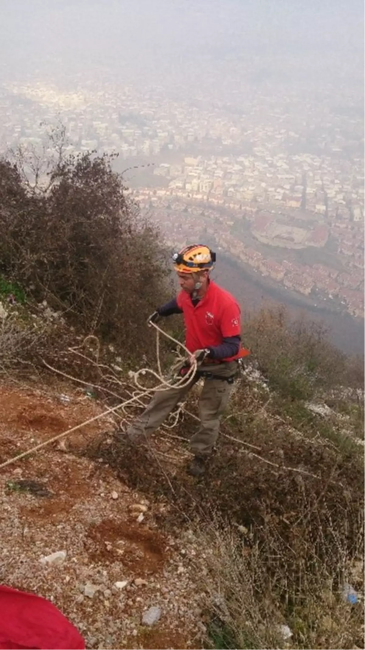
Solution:
{"label": "bright red short-sleeved polo shirt worn by the man", "polygon": [[[189,352],[194,353],[195,350],[220,345],[223,338],[238,336],[241,333],[241,310],[238,302],[213,281],[210,281],[207,293],[195,307],[186,291],[178,294],[177,305],[184,313],[185,345]],[[240,354],[224,361],[233,361],[238,357]]]}

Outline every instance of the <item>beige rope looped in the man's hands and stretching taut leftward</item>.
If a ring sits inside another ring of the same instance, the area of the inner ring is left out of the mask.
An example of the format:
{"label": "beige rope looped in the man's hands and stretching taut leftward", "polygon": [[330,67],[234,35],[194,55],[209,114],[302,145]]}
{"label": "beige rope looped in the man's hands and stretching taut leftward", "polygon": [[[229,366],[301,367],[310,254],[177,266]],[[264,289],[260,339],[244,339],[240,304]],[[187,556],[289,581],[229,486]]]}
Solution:
{"label": "beige rope looped in the man's hands and stretching taut leftward", "polygon": [[[38,452],[40,449],[43,449],[44,447],[47,447],[47,445],[51,445],[51,443],[56,442],[57,440],[60,440],[63,437],[66,437],[66,435],[69,435],[73,433],[74,431],[77,431],[81,429],[83,426],[87,426],[88,424],[91,424],[92,422],[95,422],[97,420],[100,420],[101,418],[105,417],[106,415],[109,415],[110,413],[115,413],[119,409],[123,409],[125,406],[128,404],[133,404],[134,402],[138,402],[140,398],[144,395],[150,395],[151,393],[155,393],[155,391],[168,391],[170,389],[181,389],[184,386],[188,385],[192,381],[192,379],[195,376],[195,373],[197,371],[197,362],[196,360],[193,361],[193,363],[190,365],[190,368],[186,374],[177,380],[177,382],[171,383],[168,382],[167,380],[164,379],[162,376],[161,372],[161,364],[160,364],[160,334],[164,335],[167,339],[170,339],[170,341],[173,341],[173,343],[176,343],[177,346],[181,347],[184,349],[186,354],[190,357],[190,352],[189,350],[180,342],[174,339],[170,334],[168,334],[166,331],[161,330],[157,324],[155,323],[150,323],[150,326],[153,326],[156,330],[156,354],[157,354],[157,366],[159,370],[159,374],[155,372],[155,370],[151,370],[150,368],[142,368],[140,370],[137,370],[137,372],[134,373],[134,383],[136,383],[136,386],[140,389],[136,395],[133,395],[129,400],[125,400],[123,402],[120,402],[117,406],[113,406],[112,408],[108,408],[103,413],[99,413],[99,415],[95,415],[94,417],[90,418],[89,420],[86,420],[85,422],[81,422],[81,424],[77,424],[76,426],[73,426],[71,429],[68,429],[67,431],[62,432],[61,434],[55,435],[52,438],[49,438],[48,440],[45,440],[43,443],[40,443],[39,445],[36,445],[35,447],[31,447],[29,450],[18,454],[18,456],[14,456],[14,458],[9,458],[6,460],[4,463],[1,463],[0,469],[3,469],[4,467],[8,467],[8,465],[11,465],[12,463],[16,463],[16,461],[21,460],[22,458],[25,458],[25,456],[29,456],[31,454],[34,454],[35,452]],[[181,357],[181,360],[183,360],[183,357]],[[65,372],[62,372],[62,370],[57,370],[55,368],[52,368],[49,366],[47,363],[45,363],[45,366],[47,366],[51,370],[55,370],[55,372],[58,372],[58,374],[62,374],[63,376],[73,379],[73,377],[69,376]],[[142,384],[138,382],[138,379],[141,374],[151,374],[153,377],[157,378],[157,380],[160,382],[157,387],[153,388],[145,388]],[[81,383],[86,383],[83,382],[82,380],[78,380]],[[93,385],[88,383],[87,385]]]}

